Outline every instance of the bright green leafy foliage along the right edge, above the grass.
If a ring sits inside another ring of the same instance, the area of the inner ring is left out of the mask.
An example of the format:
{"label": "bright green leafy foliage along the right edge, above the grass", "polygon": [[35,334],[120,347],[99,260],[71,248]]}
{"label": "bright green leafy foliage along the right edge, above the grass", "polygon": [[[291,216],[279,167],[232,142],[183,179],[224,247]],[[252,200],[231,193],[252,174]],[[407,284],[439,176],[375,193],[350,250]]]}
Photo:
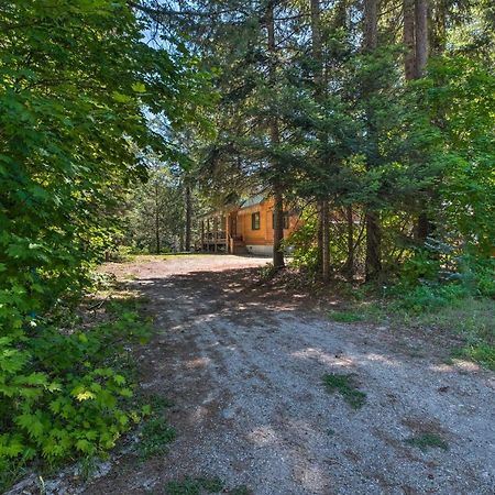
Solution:
{"label": "bright green leafy foliage along the right edge, above the grass", "polygon": [[477,61],[446,56],[431,64],[430,80],[427,101],[442,114],[443,221],[462,234],[466,254],[487,258],[495,242],[495,76]]}

